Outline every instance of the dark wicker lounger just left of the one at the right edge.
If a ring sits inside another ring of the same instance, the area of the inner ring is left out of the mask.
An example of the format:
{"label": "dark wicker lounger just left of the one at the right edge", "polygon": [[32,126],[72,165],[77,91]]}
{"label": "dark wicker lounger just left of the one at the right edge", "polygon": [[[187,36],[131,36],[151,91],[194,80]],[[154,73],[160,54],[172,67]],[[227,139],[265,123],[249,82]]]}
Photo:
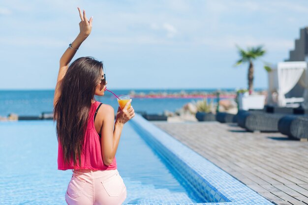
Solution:
{"label": "dark wicker lounger just left of the one at the right edge", "polygon": [[260,111],[240,110],[237,115],[238,124],[247,131],[278,132],[278,121],[286,114],[269,114]]}

